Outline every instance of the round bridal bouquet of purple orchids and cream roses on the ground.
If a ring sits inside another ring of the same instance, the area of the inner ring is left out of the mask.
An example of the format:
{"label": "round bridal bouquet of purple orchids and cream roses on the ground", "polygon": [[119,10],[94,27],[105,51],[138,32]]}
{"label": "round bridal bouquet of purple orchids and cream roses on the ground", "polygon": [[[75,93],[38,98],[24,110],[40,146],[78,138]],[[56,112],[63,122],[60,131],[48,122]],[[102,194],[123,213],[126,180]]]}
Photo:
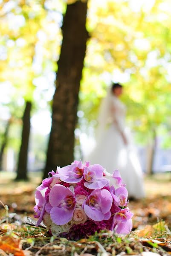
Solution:
{"label": "round bridal bouquet of purple orchids and cream roses on the ground", "polygon": [[99,164],[74,161],[57,167],[37,187],[35,202],[37,226],[43,221],[54,236],[80,239],[100,230],[128,234],[132,229],[128,191],[119,171],[110,175]]}

